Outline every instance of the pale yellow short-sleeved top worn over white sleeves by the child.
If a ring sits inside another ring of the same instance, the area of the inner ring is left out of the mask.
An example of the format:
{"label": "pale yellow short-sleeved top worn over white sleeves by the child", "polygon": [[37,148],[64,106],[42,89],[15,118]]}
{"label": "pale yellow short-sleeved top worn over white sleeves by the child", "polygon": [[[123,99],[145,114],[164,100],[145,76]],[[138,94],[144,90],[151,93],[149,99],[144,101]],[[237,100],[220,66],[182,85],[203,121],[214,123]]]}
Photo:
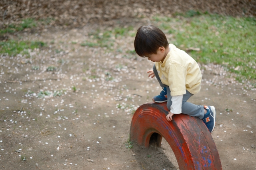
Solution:
{"label": "pale yellow short-sleeved top worn over white sleeves by the child", "polygon": [[185,51],[169,44],[170,52],[164,62],[156,62],[156,69],[163,84],[170,87],[171,96],[196,94],[201,89],[202,74],[196,61]]}

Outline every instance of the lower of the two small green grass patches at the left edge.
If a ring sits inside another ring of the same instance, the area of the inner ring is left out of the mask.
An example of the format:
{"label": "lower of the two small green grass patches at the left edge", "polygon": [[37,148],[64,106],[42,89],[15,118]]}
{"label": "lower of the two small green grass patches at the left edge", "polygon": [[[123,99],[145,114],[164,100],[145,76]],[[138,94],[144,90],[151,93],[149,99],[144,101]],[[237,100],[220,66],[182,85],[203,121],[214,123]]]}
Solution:
{"label": "lower of the two small green grass patches at the left edge", "polygon": [[42,41],[2,41],[0,42],[0,54],[16,56],[17,54],[28,55],[28,49],[44,47],[46,43]]}

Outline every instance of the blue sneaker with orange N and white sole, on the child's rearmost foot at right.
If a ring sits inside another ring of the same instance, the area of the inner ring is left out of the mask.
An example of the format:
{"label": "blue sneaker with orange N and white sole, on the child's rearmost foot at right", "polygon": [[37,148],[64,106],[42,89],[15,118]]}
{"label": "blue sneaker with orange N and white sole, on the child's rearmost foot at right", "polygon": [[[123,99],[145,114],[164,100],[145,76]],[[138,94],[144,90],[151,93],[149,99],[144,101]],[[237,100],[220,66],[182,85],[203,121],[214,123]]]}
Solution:
{"label": "blue sneaker with orange N and white sole, on the child's rearmost foot at right", "polygon": [[207,113],[204,115],[203,121],[209,132],[212,133],[216,123],[216,109],[214,106],[204,106]]}

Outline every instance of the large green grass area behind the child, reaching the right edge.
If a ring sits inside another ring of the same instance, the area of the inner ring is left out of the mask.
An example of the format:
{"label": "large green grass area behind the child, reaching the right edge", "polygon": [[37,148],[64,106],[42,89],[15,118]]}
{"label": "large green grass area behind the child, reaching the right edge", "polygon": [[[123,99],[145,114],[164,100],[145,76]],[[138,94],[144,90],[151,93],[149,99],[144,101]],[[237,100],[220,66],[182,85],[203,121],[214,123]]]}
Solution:
{"label": "large green grass area behind the child, reaching the right edge", "polygon": [[154,17],[156,26],[172,33],[176,47],[200,48],[187,51],[199,63],[225,66],[236,79],[256,80],[256,19],[189,12],[182,19]]}

